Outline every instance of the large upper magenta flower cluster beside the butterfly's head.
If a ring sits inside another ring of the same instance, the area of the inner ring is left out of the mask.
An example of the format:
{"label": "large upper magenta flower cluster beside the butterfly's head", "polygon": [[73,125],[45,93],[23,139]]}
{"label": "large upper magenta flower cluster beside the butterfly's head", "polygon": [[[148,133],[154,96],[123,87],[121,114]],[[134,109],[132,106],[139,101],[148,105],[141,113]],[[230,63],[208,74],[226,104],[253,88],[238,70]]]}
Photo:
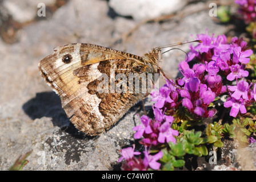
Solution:
{"label": "large upper magenta flower cluster beside the butterfly's head", "polygon": [[[247,43],[237,37],[231,43],[227,43],[225,35],[214,37],[200,34],[197,39],[202,40],[202,43],[190,46],[188,60],[179,64],[183,77],[176,82],[181,88],[167,81],[158,93],[151,94],[153,101],[156,101],[155,107],[167,108],[169,115],[173,115],[182,105],[194,118],[210,118],[217,112],[209,109],[210,103],[215,97],[228,94],[224,106],[231,107],[230,115],[237,117],[239,111],[246,113],[246,107],[256,98],[255,84],[251,89],[252,84],[245,81],[249,75],[245,70],[246,64],[253,51],[247,49]],[[189,66],[191,60],[197,61],[192,68]],[[229,86],[232,81],[237,84]]]}

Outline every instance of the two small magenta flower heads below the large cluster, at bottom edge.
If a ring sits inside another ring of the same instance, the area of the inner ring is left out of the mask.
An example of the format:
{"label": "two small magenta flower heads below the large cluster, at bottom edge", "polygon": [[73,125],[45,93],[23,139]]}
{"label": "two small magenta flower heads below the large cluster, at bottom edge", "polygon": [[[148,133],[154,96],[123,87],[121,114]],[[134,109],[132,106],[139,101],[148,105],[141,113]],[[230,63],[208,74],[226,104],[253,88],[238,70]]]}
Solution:
{"label": "two small magenta flower heads below the large cluster, at bottom edge", "polygon": [[143,139],[139,142],[145,146],[144,158],[142,160],[141,156],[135,157],[134,155],[139,155],[140,152],[134,152],[134,147],[128,147],[122,149],[122,157],[118,162],[121,162],[123,159],[126,160],[122,164],[122,169],[126,171],[131,170],[147,170],[159,169],[161,164],[157,160],[161,159],[163,154],[162,151],[159,151],[155,155],[150,155],[147,151],[147,147],[158,146],[159,144],[173,142],[176,143],[174,136],[178,136],[179,132],[177,130],[171,129],[171,124],[174,121],[174,118],[169,115],[165,115],[165,112],[154,107],[154,119],[149,118],[147,115],[141,117],[141,125],[135,126],[134,131],[137,131],[134,134],[134,139]]}

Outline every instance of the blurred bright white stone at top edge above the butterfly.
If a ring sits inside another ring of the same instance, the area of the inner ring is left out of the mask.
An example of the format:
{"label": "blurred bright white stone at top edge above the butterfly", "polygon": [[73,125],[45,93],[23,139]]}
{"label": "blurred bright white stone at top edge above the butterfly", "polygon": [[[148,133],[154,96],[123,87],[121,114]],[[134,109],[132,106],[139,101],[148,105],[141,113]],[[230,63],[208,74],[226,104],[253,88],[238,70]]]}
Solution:
{"label": "blurred bright white stone at top edge above the butterfly", "polygon": [[132,16],[135,20],[156,18],[182,9],[187,0],[110,0],[116,13]]}

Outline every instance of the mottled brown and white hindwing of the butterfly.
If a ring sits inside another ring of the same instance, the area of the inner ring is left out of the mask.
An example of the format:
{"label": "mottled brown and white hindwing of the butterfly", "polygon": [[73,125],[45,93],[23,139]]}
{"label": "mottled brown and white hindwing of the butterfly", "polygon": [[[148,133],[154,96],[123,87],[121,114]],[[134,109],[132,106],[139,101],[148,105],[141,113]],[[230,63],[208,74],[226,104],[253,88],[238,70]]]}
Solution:
{"label": "mottled brown and white hindwing of the butterfly", "polygon": [[[116,123],[131,106],[142,99],[145,93],[134,93],[133,90],[129,92],[129,79],[115,79],[116,75],[129,78],[130,75],[134,75],[134,70],[141,70],[139,67],[142,67],[142,65],[137,65],[137,69],[134,69],[131,65],[136,65],[134,60],[105,60],[97,64],[86,65],[74,71],[74,75],[80,78],[80,84],[83,84],[82,88],[84,89],[81,89],[81,94],[78,94],[77,99],[77,101],[82,101],[83,104],[70,102],[64,109],[66,113],[69,113],[69,107],[76,108],[76,110],[73,110],[74,113],[72,114],[75,116],[71,118],[71,122],[79,130],[90,133],[90,135],[102,133],[102,131],[109,129],[110,126]],[[114,78],[111,76],[111,72],[113,72]],[[93,76],[89,76],[88,73]],[[134,80],[141,72],[136,73]],[[88,81],[88,77],[96,78],[96,75],[99,76],[97,79]],[[105,75],[105,77],[102,77],[102,75]],[[102,80],[102,78],[105,79]],[[102,84],[104,81],[107,84]],[[107,89],[101,90],[102,86],[99,87],[100,84]],[[133,83],[131,85],[134,86]],[[111,86],[114,86],[114,88],[111,88]],[[86,94],[84,93],[85,89]],[[80,107],[78,108],[78,106]]]}

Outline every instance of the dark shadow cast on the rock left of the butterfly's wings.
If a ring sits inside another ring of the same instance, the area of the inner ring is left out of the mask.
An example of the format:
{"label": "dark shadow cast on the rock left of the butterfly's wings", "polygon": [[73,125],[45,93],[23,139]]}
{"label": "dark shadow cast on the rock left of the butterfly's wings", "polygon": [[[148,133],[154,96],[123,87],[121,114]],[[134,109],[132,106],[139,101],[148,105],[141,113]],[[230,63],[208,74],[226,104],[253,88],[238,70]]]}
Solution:
{"label": "dark shadow cast on the rock left of the butterfly's wings", "polygon": [[62,131],[75,138],[84,137],[67,118],[61,106],[61,99],[55,92],[37,93],[35,98],[23,104],[22,109],[31,119],[50,117],[53,125],[60,127]]}

